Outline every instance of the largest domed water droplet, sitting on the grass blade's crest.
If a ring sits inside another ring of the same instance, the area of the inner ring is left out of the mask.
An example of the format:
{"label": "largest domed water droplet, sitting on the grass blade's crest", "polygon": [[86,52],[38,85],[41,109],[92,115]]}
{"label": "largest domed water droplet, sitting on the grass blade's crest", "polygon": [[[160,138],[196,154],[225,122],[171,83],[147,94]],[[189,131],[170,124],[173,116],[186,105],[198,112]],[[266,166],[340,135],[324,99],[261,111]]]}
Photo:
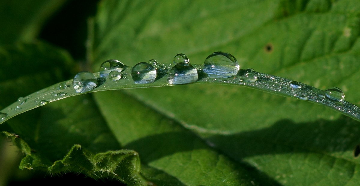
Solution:
{"label": "largest domed water droplet, sitting on the grass blade's crest", "polygon": [[231,77],[240,69],[236,58],[224,52],[214,52],[204,62],[204,73],[211,78]]}

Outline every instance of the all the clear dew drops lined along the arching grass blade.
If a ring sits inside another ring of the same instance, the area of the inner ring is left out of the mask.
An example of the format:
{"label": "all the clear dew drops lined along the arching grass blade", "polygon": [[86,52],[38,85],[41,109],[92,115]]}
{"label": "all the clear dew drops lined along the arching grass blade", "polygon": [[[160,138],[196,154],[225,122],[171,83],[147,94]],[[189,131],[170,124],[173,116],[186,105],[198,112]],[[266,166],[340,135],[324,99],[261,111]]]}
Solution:
{"label": "all the clear dew drops lined along the arching grass blade", "polygon": [[[149,62],[140,62],[133,67],[124,65],[118,60],[107,60],[100,65],[100,78],[109,78],[111,81],[118,81],[125,79],[126,77],[121,74],[126,68],[131,68],[131,77],[136,84],[145,84],[153,83],[158,74],[168,75],[167,81],[172,85],[180,85],[187,83],[194,83],[198,81],[198,71],[196,68],[190,64],[189,58],[185,54],[177,54],[173,60],[175,64],[170,71],[167,73],[166,67],[162,64],[157,63],[156,60],[152,59]],[[210,54],[204,62],[204,68],[202,70],[204,74],[207,74],[209,78],[229,78],[234,77],[238,78],[239,81],[244,82],[255,82],[257,81],[257,76],[254,73],[254,69],[240,69],[239,63],[236,58],[224,52],[214,52]],[[270,78],[271,79],[271,78]],[[90,92],[98,85],[98,80],[95,75],[91,72],[79,72],[75,75],[72,81],[73,88],[77,93],[86,93]],[[289,85],[292,89],[301,89],[301,86],[298,82],[292,81]],[[65,92],[61,91],[70,87],[67,83],[60,83],[58,89],[60,92],[53,92],[51,95],[53,97],[61,97],[66,95]],[[319,97],[335,101],[344,101],[344,93],[337,87],[327,89],[324,91],[324,94],[319,94]],[[29,99],[30,97],[27,97]],[[298,96],[301,100],[307,100],[307,96],[300,95]],[[18,99],[19,105],[14,108],[15,111],[21,109],[21,105],[26,102],[25,98],[20,97]],[[38,106],[42,106],[48,103],[46,100],[35,99],[35,103]],[[6,113],[0,112],[0,121],[7,117]]]}

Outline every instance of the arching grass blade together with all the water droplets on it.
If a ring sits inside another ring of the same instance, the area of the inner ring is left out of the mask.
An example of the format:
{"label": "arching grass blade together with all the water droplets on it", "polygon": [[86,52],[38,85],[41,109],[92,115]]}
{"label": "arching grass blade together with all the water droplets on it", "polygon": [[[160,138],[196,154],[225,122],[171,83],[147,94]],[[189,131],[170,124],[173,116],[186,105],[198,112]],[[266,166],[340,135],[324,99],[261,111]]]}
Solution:
{"label": "arching grass blade together with all the water droplets on it", "polygon": [[[35,101],[37,106],[42,106],[49,103],[49,100],[62,99],[67,94],[71,96],[72,93],[69,89],[75,90],[77,94],[82,94],[91,92],[100,85],[104,84],[102,87],[105,87],[105,84],[109,85],[120,81],[123,81],[122,85],[126,86],[151,84],[157,81],[161,82],[161,85],[180,85],[194,82],[247,85],[262,91],[279,92],[275,94],[325,104],[344,113],[352,112],[352,115],[360,118],[360,113],[352,111],[359,110],[359,108],[346,102],[343,91],[337,87],[323,91],[297,81],[259,73],[252,68],[240,69],[240,65],[233,55],[220,51],[207,56],[203,65],[190,64],[190,60],[185,54],[175,55],[172,63],[158,63],[156,60],[151,59],[148,62],[140,62],[134,66],[127,66],[114,59],[107,60],[100,65],[98,74],[79,72],[73,78],[72,83],[71,81],[61,82],[57,87],[52,87],[52,98],[46,100],[47,95],[43,95],[35,96],[31,100]],[[10,113],[8,111],[23,112],[20,110],[29,102],[30,98],[31,96],[19,97],[17,102],[11,105],[8,110],[5,110],[5,112],[2,110],[0,112],[0,122],[9,117],[8,114]]]}

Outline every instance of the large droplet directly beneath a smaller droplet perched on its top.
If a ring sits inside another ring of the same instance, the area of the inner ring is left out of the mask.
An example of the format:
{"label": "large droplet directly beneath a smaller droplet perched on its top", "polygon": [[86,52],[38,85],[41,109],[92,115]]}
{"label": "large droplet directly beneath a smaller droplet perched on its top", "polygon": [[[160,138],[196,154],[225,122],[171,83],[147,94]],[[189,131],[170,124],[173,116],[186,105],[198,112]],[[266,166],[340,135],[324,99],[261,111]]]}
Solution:
{"label": "large droplet directly beneath a smaller droplet perched on its top", "polygon": [[168,81],[174,85],[193,83],[198,81],[198,72],[189,63],[178,63],[171,68]]}

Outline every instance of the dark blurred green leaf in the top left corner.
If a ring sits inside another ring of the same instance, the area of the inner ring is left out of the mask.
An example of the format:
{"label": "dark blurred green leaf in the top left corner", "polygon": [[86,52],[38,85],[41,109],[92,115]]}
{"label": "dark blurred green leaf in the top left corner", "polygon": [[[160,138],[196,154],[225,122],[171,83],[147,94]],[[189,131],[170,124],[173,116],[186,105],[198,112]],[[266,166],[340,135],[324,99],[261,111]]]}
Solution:
{"label": "dark blurred green leaf in the top left corner", "polygon": [[0,44],[32,41],[42,24],[65,2],[66,0],[1,1]]}

